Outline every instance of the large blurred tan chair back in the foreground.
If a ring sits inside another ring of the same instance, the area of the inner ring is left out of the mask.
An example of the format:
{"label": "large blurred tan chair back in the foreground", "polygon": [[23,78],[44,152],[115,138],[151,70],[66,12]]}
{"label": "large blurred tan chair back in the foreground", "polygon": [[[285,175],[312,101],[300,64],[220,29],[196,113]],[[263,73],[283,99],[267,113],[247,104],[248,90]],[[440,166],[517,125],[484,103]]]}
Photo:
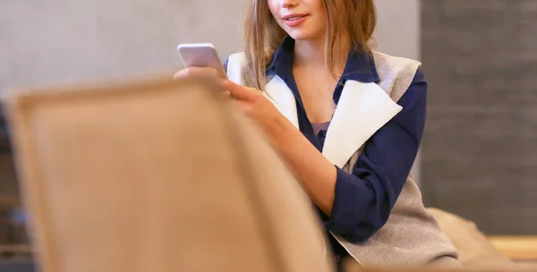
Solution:
{"label": "large blurred tan chair back in the foreground", "polygon": [[311,202],[258,129],[202,81],[7,100],[40,271],[320,271]]}

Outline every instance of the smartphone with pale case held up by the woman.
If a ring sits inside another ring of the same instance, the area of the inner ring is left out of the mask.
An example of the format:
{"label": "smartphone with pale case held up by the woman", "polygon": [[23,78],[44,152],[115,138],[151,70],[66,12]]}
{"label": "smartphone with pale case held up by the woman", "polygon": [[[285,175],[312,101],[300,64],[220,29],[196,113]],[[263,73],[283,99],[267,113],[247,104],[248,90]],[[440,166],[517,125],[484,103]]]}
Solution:
{"label": "smartphone with pale case held up by the woman", "polygon": [[212,44],[180,44],[177,52],[181,56],[184,67],[211,67],[226,78],[224,65],[218,57],[217,50]]}

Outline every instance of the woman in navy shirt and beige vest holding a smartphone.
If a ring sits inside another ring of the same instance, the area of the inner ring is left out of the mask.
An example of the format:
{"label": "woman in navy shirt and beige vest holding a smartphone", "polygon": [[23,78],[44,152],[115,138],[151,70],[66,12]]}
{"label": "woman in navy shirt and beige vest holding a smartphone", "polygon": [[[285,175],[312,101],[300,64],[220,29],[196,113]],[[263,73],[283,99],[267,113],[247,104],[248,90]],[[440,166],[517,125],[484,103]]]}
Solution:
{"label": "woman in navy shirt and beige vest holding a smartphone", "polygon": [[228,58],[222,85],[318,208],[338,267],[456,267],[409,176],[427,82],[419,63],[371,51],[375,20],[373,0],[251,1],[244,53]]}

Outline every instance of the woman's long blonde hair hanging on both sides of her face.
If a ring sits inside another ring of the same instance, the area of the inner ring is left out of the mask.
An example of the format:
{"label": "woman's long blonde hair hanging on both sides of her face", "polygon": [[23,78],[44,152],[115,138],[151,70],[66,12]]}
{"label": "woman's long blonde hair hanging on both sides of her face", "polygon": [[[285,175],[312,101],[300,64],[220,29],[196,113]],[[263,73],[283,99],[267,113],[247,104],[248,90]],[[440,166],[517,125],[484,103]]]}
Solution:
{"label": "woman's long blonde hair hanging on both sides of her face", "polygon": [[[247,86],[264,89],[268,64],[286,38],[268,9],[268,0],[252,0],[244,20],[243,51],[246,57],[242,77]],[[334,47],[337,38],[346,35],[351,50],[370,52],[369,42],[377,24],[374,0],[322,0],[327,12],[325,58],[334,72]]]}

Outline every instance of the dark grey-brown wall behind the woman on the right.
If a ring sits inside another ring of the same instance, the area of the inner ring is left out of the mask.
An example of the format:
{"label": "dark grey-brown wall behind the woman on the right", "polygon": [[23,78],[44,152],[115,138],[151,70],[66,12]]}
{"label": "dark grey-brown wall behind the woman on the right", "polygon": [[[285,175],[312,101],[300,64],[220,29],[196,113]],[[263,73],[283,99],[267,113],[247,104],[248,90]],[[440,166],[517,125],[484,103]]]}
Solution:
{"label": "dark grey-brown wall behind the woman on the right", "polygon": [[537,234],[537,1],[422,0],[427,205]]}

